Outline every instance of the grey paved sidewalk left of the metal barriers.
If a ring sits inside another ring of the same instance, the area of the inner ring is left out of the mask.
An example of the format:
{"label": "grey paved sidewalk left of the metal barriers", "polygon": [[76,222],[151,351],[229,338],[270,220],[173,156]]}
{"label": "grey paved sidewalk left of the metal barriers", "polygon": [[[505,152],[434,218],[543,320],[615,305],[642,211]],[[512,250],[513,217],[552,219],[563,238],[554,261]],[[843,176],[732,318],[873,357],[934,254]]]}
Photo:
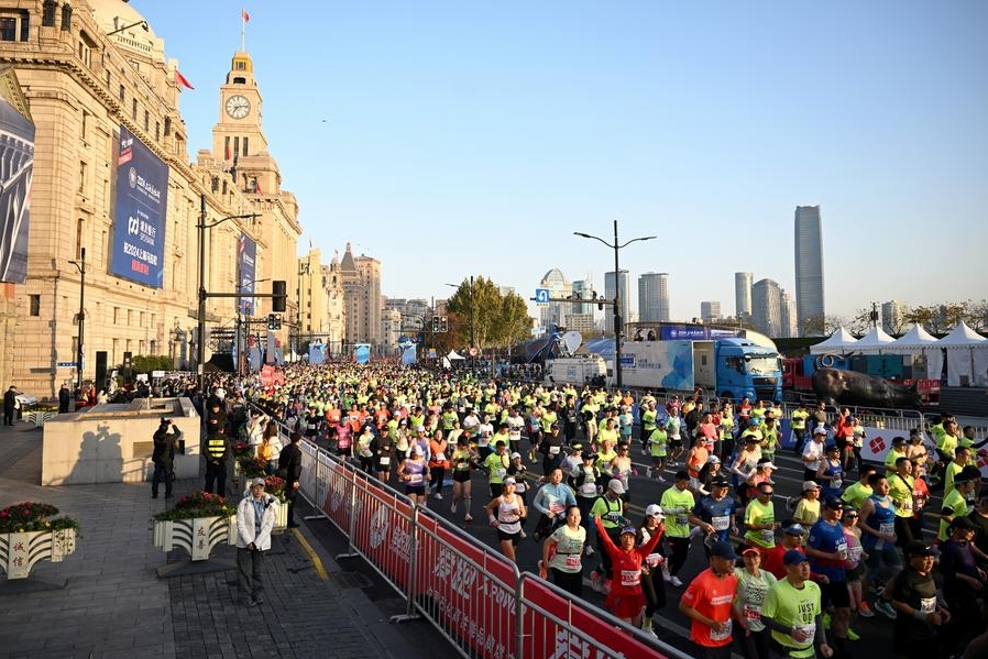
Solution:
{"label": "grey paved sidewalk left of the metal barriers", "polygon": [[[233,570],[157,578],[158,567],[188,558],[152,545],[151,516],[175,499],[152,499],[150,483],[41,487],[41,446],[33,425],[0,429],[0,508],[53,504],[79,521],[81,536],[75,553],[62,563],[37,563],[29,580],[0,575],[0,657],[418,656],[360,589],[333,579],[341,568],[305,524],[274,538],[285,552],[265,561],[265,603],[243,608]],[[179,481],[175,496],[200,486]],[[235,550],[221,545],[213,558],[234,564]],[[55,590],[24,583],[62,580],[65,587]]]}

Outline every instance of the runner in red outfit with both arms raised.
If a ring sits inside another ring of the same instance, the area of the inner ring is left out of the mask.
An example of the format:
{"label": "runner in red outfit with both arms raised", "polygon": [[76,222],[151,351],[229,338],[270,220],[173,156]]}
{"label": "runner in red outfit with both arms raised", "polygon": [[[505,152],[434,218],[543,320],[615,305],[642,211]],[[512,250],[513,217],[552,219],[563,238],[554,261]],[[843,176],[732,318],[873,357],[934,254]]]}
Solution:
{"label": "runner in red outfit with both arms raised", "polygon": [[647,574],[648,567],[645,557],[652,552],[656,545],[662,538],[662,534],[654,535],[641,547],[635,547],[637,529],[634,526],[625,526],[621,529],[621,547],[614,545],[607,536],[607,529],[601,523],[601,516],[593,518],[597,527],[597,535],[603,542],[604,551],[611,557],[611,565],[614,570],[614,579],[611,580],[611,592],[604,606],[626,623],[635,627],[641,627],[641,613],[645,609],[645,593],[641,591],[641,573]]}

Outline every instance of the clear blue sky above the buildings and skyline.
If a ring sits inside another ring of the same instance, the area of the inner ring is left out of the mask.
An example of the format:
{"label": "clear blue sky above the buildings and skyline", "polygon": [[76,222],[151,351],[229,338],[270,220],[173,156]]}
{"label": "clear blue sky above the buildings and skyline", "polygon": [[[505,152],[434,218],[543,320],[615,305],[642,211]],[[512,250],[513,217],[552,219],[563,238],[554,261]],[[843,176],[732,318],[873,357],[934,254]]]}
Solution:
{"label": "clear blue sky above the buildings and skyline", "polygon": [[[822,207],[826,307],[988,296],[988,2],[134,0],[211,144],[240,47],[305,234],[383,264],[389,297],[559,267],[603,292],[668,272],[672,314],[734,312],[735,271],[794,293]],[[323,121],[325,120],[325,121]]]}

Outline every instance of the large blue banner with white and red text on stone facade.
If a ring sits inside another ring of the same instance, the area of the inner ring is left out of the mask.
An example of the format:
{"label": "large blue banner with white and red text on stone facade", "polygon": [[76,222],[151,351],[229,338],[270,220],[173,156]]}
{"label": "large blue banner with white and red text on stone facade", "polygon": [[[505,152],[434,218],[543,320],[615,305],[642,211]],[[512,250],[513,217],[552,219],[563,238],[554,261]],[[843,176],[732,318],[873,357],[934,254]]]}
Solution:
{"label": "large blue banner with white and red text on stone facade", "polygon": [[168,166],[121,125],[110,274],[163,286],[167,208]]}

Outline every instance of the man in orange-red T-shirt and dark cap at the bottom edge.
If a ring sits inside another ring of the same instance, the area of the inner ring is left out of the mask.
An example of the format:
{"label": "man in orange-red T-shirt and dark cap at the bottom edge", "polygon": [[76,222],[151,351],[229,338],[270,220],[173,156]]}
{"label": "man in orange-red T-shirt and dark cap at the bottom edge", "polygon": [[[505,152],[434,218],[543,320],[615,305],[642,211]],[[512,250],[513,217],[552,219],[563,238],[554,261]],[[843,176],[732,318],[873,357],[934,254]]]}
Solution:
{"label": "man in orange-red T-shirt and dark cap at the bottom edge", "polygon": [[731,542],[714,542],[710,568],[693,579],[679,601],[679,609],[692,620],[690,640],[696,644],[696,657],[729,659],[732,618],[744,627],[744,619],[732,605],[737,592],[735,561],[737,554]]}

